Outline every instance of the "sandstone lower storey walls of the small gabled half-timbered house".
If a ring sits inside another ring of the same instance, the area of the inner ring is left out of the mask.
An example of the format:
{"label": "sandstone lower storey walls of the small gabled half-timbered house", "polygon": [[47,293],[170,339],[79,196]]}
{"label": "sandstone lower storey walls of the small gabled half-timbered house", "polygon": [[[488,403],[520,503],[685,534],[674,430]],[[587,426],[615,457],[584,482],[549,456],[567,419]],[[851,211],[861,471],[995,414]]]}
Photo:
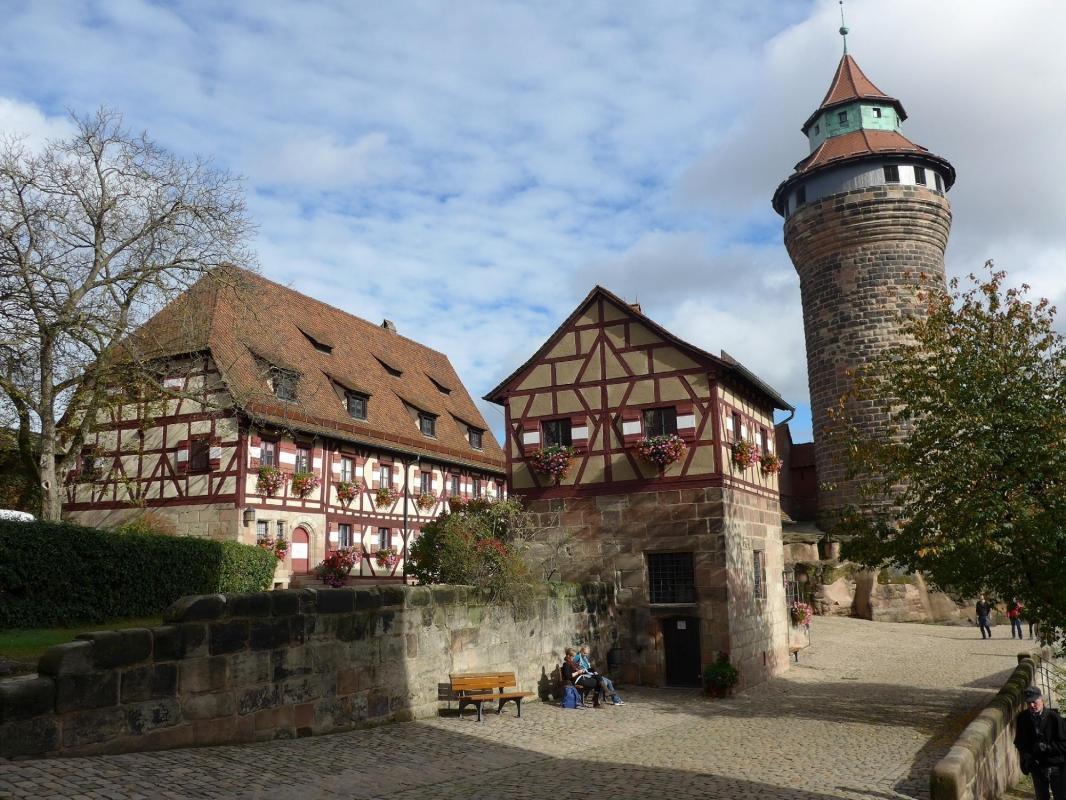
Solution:
{"label": "sandstone lower storey walls of the small gabled half-timbered house", "polygon": [[[780,511],[775,497],[722,487],[663,490],[533,500],[551,531],[534,554],[565,580],[615,587],[620,650],[616,674],[629,683],[665,682],[662,625],[695,617],[704,665],[725,653],[749,685],[787,669]],[[766,554],[768,596],[753,596],[752,550]],[[652,604],[647,554],[691,553],[694,603]]]}

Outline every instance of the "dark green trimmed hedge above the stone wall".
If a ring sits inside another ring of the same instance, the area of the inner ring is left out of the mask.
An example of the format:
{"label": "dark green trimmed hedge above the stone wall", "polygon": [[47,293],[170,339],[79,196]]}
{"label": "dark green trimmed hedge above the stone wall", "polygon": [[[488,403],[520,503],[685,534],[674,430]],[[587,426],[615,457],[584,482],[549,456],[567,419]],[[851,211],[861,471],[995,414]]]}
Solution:
{"label": "dark green trimmed hedge above the stone wall", "polygon": [[152,617],[185,594],[268,589],[276,564],[237,542],[0,521],[0,628]]}

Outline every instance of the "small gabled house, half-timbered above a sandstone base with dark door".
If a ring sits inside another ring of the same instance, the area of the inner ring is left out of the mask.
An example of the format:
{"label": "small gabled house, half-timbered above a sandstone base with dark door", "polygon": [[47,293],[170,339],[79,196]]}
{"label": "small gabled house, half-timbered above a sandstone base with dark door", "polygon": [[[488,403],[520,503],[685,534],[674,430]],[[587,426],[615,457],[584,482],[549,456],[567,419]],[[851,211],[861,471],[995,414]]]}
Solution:
{"label": "small gabled house, half-timbered above a sandstone base with dark door", "polygon": [[787,667],[773,415],[791,406],[774,389],[596,287],[486,399],[563,577],[617,588],[616,672],[698,685],[723,654],[743,682]]}

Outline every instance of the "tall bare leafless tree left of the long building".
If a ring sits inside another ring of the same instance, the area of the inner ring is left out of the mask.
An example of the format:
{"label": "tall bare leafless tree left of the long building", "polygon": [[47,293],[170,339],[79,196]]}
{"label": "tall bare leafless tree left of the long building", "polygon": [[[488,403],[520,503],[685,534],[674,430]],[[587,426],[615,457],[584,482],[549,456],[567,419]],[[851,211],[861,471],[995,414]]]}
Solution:
{"label": "tall bare leafless tree left of the long building", "polygon": [[252,260],[237,178],[131,134],[114,111],[74,121],[41,149],[0,142],[0,418],[17,422],[47,519],[116,381],[154,366],[130,334],[192,283]]}

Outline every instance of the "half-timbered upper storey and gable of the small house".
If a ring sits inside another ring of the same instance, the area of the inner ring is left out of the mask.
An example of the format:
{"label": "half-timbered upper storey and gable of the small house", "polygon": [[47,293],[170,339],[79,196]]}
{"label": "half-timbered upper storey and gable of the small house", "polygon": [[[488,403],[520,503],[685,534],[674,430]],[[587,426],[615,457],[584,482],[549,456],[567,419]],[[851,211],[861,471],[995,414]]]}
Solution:
{"label": "half-timbered upper storey and gable of the small house", "polygon": [[[777,495],[776,477],[733,465],[731,426],[740,415],[744,436],[772,450],[774,409],[791,406],[732,359],[678,339],[602,287],[485,399],[504,406],[511,490],[530,499],[713,485]],[[657,410],[688,446],[665,469],[636,449]],[[555,483],[529,455],[560,423],[576,454]]]}

